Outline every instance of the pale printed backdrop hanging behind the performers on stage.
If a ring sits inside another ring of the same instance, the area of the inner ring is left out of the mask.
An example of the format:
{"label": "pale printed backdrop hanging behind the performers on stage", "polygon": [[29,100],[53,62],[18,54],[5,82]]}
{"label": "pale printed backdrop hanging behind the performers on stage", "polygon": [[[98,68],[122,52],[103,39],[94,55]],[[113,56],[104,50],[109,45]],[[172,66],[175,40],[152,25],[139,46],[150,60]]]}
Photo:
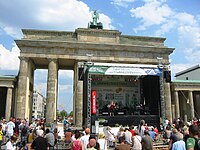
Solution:
{"label": "pale printed backdrop hanging behind the performers on stage", "polygon": [[96,90],[97,107],[105,108],[111,101],[119,108],[140,104],[139,76],[92,75],[92,90]]}

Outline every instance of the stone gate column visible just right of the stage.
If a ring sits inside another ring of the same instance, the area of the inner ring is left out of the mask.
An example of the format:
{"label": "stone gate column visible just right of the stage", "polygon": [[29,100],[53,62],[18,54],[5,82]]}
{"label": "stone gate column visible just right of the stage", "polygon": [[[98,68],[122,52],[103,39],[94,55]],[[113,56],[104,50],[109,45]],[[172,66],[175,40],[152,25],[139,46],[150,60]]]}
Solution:
{"label": "stone gate column visible just right of the stage", "polygon": [[165,89],[165,116],[167,119],[172,121],[172,108],[171,108],[171,91],[170,91],[170,83],[164,83]]}

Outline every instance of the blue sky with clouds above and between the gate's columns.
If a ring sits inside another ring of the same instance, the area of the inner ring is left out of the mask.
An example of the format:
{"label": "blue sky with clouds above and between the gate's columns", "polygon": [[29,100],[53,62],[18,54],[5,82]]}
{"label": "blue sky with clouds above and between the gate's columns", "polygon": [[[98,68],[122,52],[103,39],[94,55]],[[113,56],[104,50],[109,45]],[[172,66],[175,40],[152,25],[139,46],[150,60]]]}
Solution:
{"label": "blue sky with clouds above and between the gate's columns", "polygon": [[[105,29],[167,38],[165,45],[175,48],[172,75],[200,63],[199,0],[1,0],[0,75],[18,73],[20,51],[14,39],[22,38],[21,29],[87,28],[93,10]],[[44,96],[46,78],[46,70],[36,70],[35,88]],[[72,71],[59,71],[59,109],[68,112],[73,108],[72,80]]]}

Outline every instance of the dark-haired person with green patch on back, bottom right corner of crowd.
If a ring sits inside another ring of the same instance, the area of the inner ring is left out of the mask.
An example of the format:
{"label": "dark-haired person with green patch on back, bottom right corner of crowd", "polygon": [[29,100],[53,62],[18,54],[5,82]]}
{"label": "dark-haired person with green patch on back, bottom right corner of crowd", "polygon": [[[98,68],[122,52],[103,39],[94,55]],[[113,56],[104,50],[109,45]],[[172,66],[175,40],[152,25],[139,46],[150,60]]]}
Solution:
{"label": "dark-haired person with green patch on back, bottom right corner of crowd", "polygon": [[186,140],[187,150],[200,150],[200,140],[198,138],[199,128],[197,125],[190,125],[189,138]]}

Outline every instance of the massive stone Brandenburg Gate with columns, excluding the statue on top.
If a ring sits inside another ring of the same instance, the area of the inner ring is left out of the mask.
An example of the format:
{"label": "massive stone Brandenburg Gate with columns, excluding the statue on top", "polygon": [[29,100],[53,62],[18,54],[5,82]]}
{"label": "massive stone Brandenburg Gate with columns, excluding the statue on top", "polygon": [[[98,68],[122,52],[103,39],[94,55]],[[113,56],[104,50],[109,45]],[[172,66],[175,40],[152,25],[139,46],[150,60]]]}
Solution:
{"label": "massive stone Brandenburg Gate with columns, excluding the statue on top", "polygon": [[[74,71],[74,121],[81,126],[83,118],[83,81],[78,79],[80,62],[169,65],[173,48],[164,45],[165,38],[122,35],[118,30],[78,28],[74,32],[23,29],[16,40],[20,49],[20,70],[15,116],[31,119],[34,70],[48,69],[46,121],[56,119],[58,70]],[[170,83],[164,82],[166,117],[171,115]]]}

